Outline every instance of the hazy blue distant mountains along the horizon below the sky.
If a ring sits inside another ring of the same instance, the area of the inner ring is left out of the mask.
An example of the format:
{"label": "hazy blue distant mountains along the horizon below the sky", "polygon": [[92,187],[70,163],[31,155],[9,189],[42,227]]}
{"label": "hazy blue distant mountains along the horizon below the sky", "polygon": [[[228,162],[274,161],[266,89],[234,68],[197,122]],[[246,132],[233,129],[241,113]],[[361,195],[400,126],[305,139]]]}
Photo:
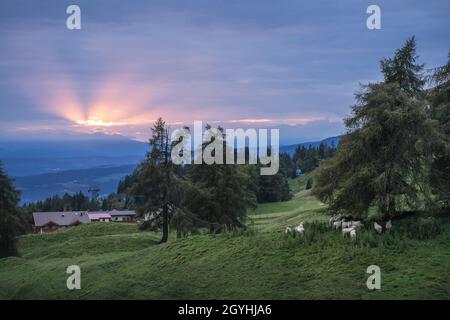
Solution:
{"label": "hazy blue distant mountains along the horizon below the sky", "polygon": [[[337,146],[339,137],[281,146],[292,155],[298,146]],[[93,186],[101,195],[116,191],[118,182],[145,159],[147,143],[123,137],[68,141],[0,141],[0,160],[21,190],[22,203],[55,194],[87,194]]]}

